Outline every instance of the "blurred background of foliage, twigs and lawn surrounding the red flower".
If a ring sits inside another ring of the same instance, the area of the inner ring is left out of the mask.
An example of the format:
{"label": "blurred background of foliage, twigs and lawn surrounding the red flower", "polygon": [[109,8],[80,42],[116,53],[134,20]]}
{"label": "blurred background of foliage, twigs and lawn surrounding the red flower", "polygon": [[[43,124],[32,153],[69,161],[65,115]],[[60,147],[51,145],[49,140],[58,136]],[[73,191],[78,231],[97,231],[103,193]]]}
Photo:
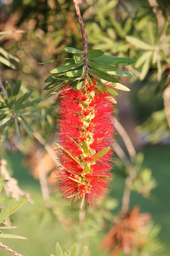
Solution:
{"label": "blurred background of foliage, twigs and lawn surrounding the red flower", "polygon": [[[15,129],[11,129],[2,152],[10,175],[18,180],[19,187],[28,191],[35,202],[34,205],[27,202],[11,217],[12,223],[18,225],[15,233],[28,240],[2,238],[1,241],[24,256],[55,254],[57,241],[64,251],[77,242],[79,246],[89,247],[87,255],[110,255],[109,250],[101,250],[100,244],[112,223],[119,218],[130,170],[127,162],[130,161],[137,176],[130,187],[129,209],[140,206],[140,212],[150,213],[152,221],[147,226],[145,246],[137,246],[140,248],[128,255],[168,256],[170,3],[168,0],[79,0],[78,3],[88,50],[101,49],[113,56],[138,60],[135,65],[124,67],[125,71],[131,71],[136,76],[121,79],[121,83],[131,91],[119,91],[117,97],[115,128],[118,135],[113,144],[117,164],[112,170],[112,189],[99,210],[85,213],[76,206],[71,208],[68,202],[61,199],[56,181],[52,179],[56,177],[54,159],[57,157],[53,150],[56,119],[59,117],[58,103],[56,95],[48,97],[55,88],[43,89],[50,70],[61,63],[38,63],[69,58],[70,54],[64,50],[66,46],[83,49],[72,1],[1,0],[0,30],[25,31],[0,38],[0,54],[10,61],[10,64],[0,64],[1,80],[3,83],[8,80],[14,88],[16,81],[23,79],[21,93],[33,89],[32,99],[43,97],[37,104],[43,118],[39,116],[33,121],[28,120],[34,130],[34,138],[21,127],[21,138],[18,139]],[[2,49],[18,59],[9,58]],[[42,191],[44,174],[47,194]],[[0,255],[9,253],[0,248]],[[120,252],[117,255],[125,254]]]}

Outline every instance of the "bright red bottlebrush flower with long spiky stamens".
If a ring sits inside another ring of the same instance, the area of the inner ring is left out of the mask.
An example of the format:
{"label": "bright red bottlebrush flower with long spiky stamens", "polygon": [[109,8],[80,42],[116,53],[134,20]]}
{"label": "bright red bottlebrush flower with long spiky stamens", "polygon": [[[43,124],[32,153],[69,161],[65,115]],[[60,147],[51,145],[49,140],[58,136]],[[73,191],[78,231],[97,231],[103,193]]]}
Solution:
{"label": "bright red bottlebrush flower with long spiky stamens", "polygon": [[87,201],[87,207],[99,207],[111,180],[113,96],[97,94],[96,79],[74,91],[65,85],[59,92],[59,172],[62,197],[74,205]]}

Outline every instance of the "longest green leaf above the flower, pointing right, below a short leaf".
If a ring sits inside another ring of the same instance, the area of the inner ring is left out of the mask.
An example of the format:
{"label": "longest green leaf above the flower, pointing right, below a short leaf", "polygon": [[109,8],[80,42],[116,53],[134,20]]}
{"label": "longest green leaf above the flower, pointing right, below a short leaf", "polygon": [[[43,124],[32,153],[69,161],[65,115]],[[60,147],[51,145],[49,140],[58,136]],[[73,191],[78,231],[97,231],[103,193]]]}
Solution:
{"label": "longest green leaf above the flower, pointing right, below a short leaf", "polygon": [[135,59],[131,59],[131,58],[119,58],[119,57],[115,57],[115,56],[109,56],[106,54],[103,54],[102,56],[98,57],[98,58],[93,58],[93,61],[97,61],[97,62],[101,62],[101,63],[105,63],[105,64],[111,64],[111,65],[131,65],[133,63],[136,62]]}

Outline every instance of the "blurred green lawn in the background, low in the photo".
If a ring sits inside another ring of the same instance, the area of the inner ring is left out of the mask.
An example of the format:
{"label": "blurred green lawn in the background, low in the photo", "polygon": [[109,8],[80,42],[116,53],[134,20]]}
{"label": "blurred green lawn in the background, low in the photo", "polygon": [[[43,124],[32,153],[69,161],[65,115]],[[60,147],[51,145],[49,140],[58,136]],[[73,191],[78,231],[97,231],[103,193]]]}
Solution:
{"label": "blurred green lawn in the background, low in the photo", "polygon": [[[153,221],[161,226],[160,240],[165,244],[166,250],[161,253],[161,256],[168,256],[170,251],[169,244],[169,230],[170,230],[170,161],[169,152],[170,147],[162,146],[149,146],[143,150],[145,155],[144,165],[150,167],[153,171],[158,186],[153,190],[155,200],[150,201],[143,198],[141,195],[135,192],[131,193],[130,208],[134,205],[140,205],[141,212],[149,212],[152,214]],[[64,250],[70,248],[72,244],[78,241],[79,237],[76,235],[77,228],[74,223],[68,221],[69,231],[63,229],[58,221],[52,219],[50,212],[45,211],[43,198],[40,191],[39,182],[34,180],[31,174],[29,174],[28,168],[23,165],[24,156],[20,153],[9,153],[10,162],[12,163],[14,174],[13,176],[18,179],[19,186],[29,191],[31,198],[35,200],[35,205],[32,206],[28,202],[22,206],[17,213],[11,215],[12,225],[17,225],[18,229],[11,229],[10,233],[27,237],[28,240],[14,240],[2,238],[1,242],[23,254],[24,256],[50,256],[50,253],[55,254],[55,244],[58,241]],[[112,182],[112,190],[110,196],[117,198],[119,201],[122,198],[124,182],[125,180],[118,175],[118,170],[115,167],[114,181]],[[59,193],[59,192],[58,192]],[[64,203],[60,196],[58,196],[58,211],[60,205],[66,205],[65,209],[71,214],[70,217],[74,219],[78,218],[78,209],[74,209]],[[107,199],[106,199],[107,200]],[[102,207],[102,205],[101,205]],[[117,212],[120,209],[120,204],[116,209]],[[97,211],[100,211],[97,210]],[[44,214],[43,214],[44,213]],[[93,213],[87,213],[87,222],[90,221],[90,216]],[[97,212],[96,212],[97,214]],[[92,223],[93,224],[93,223]],[[77,234],[79,230],[77,230]],[[75,235],[73,235],[75,234]],[[108,254],[103,253],[99,249],[99,243],[104,236],[104,233],[99,230],[97,234],[89,233],[90,238],[90,251],[91,256],[106,256]],[[0,248],[1,256],[10,255],[9,252],[5,252]]]}

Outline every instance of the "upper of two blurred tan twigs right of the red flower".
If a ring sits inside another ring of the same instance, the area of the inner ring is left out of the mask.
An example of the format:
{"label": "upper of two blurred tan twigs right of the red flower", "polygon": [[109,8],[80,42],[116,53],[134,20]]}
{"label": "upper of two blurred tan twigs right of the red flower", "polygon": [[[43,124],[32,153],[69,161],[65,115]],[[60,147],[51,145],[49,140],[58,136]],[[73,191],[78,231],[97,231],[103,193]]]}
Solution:
{"label": "upper of two blurred tan twigs right of the red flower", "polygon": [[119,121],[115,117],[114,117],[114,120],[115,120],[114,126],[118,130],[120,136],[122,137],[126,145],[131,161],[134,162],[134,160],[136,159],[136,151],[132,144],[132,141],[128,136],[127,132],[125,131],[125,129],[123,128],[123,126],[119,123]]}

